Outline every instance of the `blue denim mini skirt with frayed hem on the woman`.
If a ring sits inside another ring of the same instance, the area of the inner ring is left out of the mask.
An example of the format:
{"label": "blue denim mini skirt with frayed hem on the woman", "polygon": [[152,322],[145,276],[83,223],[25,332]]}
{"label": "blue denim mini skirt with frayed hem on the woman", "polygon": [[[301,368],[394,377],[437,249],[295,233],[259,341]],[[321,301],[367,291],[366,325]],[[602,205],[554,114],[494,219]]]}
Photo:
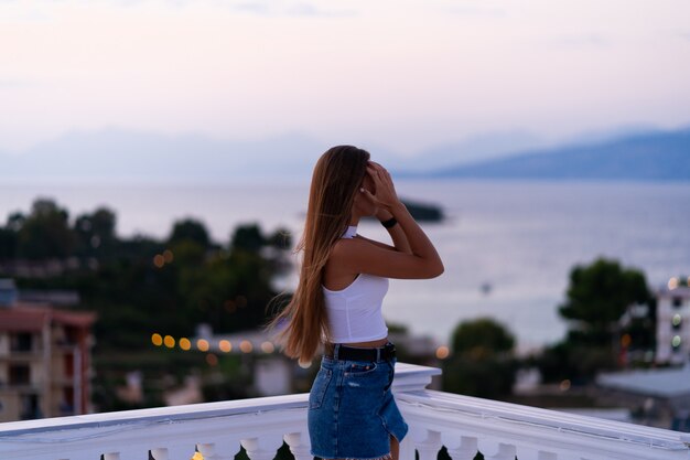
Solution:
{"label": "blue denim mini skirt with frayed hem on the woman", "polygon": [[390,457],[390,437],[408,426],[390,386],[396,360],[343,361],[324,356],[309,394],[311,453],[322,459]]}

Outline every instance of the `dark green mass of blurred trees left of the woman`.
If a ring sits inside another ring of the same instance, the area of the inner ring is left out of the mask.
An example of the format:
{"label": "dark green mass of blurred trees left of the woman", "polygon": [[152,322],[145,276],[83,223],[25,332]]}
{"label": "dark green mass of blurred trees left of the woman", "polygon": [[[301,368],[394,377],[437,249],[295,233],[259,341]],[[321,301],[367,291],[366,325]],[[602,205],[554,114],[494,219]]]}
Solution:
{"label": "dark green mass of blurred trees left of the woman", "polygon": [[105,383],[95,392],[110,409],[118,402],[107,382],[119,381],[129,370],[144,368],[150,381],[200,365],[193,363],[198,354],[152,346],[152,333],[192,336],[202,322],[216,332],[265,324],[266,307],[274,296],[271,281],[291,243],[284,231],[265,237],[258,225],[249,224],[235,231],[231,247],[220,248],[194,220],[175,223],[165,240],[141,235],[120,239],[115,213],[106,207],[79,215],[72,227],[68,217],[52,200],[36,200],[30,213],[12,214],[0,227],[0,258],[11,260],[17,253],[36,260],[74,255],[97,259],[65,264],[50,278],[20,277],[18,284],[77,290],[82,302],[76,308],[97,313],[94,366]]}

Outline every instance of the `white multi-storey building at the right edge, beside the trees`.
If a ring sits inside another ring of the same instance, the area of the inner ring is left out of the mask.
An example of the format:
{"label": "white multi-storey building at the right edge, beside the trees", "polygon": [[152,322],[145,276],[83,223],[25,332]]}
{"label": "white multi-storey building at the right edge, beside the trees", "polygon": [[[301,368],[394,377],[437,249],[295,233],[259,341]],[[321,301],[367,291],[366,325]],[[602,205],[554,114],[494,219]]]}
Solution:
{"label": "white multi-storey building at the right edge, beside the trees", "polygon": [[657,293],[657,363],[682,364],[690,359],[690,287],[671,278]]}

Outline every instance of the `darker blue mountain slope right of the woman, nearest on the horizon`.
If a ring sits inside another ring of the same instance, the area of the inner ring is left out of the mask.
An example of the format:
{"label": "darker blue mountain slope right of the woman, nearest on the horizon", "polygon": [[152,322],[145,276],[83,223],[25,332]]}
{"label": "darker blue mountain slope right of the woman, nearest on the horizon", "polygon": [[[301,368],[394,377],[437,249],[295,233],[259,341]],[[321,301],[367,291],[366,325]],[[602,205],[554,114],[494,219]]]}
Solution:
{"label": "darker blue mountain slope right of the woman, nearest on the horizon", "polygon": [[507,158],[444,168],[424,176],[690,181],[690,129],[525,151]]}

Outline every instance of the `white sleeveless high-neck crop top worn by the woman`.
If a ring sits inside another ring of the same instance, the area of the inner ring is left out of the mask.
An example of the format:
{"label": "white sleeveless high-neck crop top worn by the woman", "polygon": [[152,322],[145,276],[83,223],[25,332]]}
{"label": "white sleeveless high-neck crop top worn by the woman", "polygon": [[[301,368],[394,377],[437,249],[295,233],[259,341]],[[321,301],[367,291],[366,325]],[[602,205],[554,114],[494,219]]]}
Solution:
{"label": "white sleeveless high-neck crop top worn by the woman", "polygon": [[[357,227],[348,227],[344,238],[353,238]],[[334,343],[368,342],[388,336],[381,314],[388,278],[359,274],[344,289],[333,291],[322,286],[331,340]]]}

